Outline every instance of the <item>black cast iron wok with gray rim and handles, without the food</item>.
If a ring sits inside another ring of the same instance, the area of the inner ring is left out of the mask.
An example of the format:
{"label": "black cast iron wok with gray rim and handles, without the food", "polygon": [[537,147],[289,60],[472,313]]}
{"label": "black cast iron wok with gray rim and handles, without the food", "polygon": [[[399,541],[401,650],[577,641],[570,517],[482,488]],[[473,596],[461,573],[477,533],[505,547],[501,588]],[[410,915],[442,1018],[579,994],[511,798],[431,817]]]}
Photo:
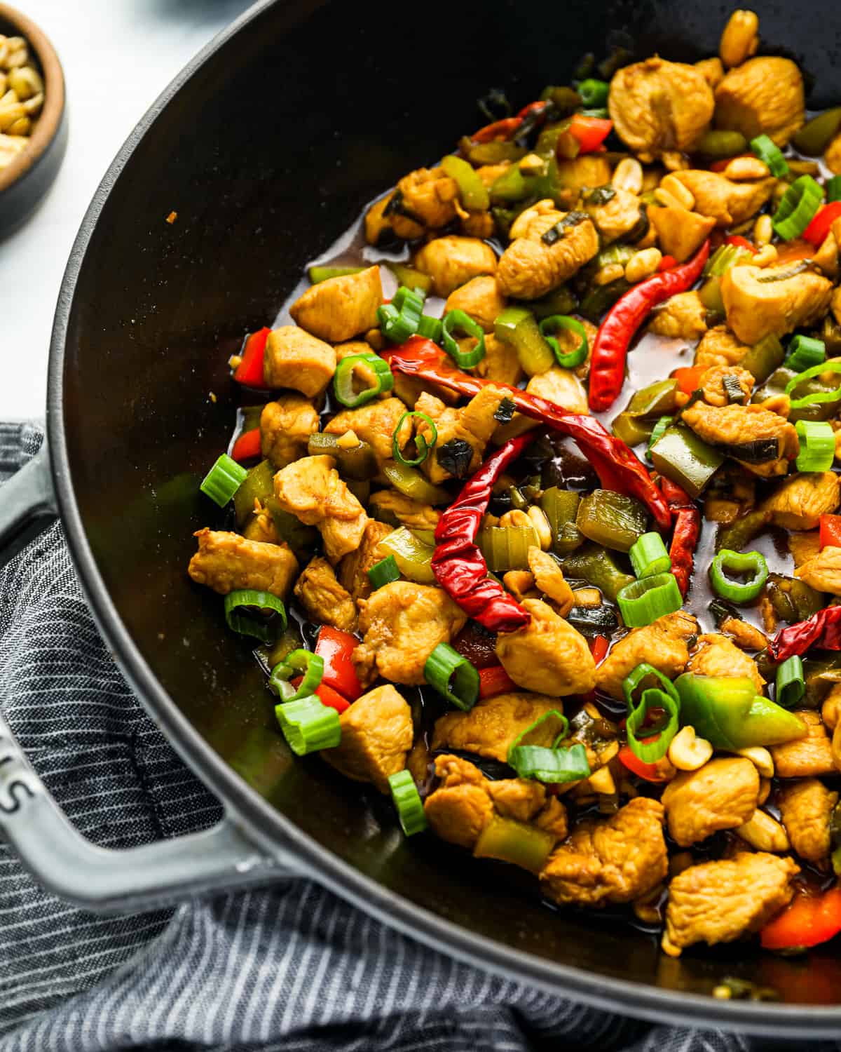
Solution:
{"label": "black cast iron wok with gray rim and handles, without the food", "polygon": [[[804,19],[794,5],[754,6],[768,48],[792,48],[815,75],[812,104],[837,103],[837,7],[822,0]],[[526,102],[610,43],[640,57],[712,54],[729,11],[709,0],[574,0],[552,14],[429,0],[418,21],[385,0],[262,3],[144,118],[67,267],[49,461],[3,488],[0,529],[12,551],[60,512],[124,672],[227,816],[191,837],[102,851],[70,829],[0,728],[0,826],[44,884],[102,910],[303,873],[426,943],[558,994],[682,1025],[841,1033],[832,952],[796,960],[732,946],[673,960],[615,919],[540,906],[501,865],[405,841],[376,794],[291,757],[247,646],[185,573],[190,534],[208,519],[198,482],[233,416],[227,355],[272,322],[303,264],[366,201],[451,148],[489,86]],[[725,974],[775,987],[784,1003],[714,1000]]]}

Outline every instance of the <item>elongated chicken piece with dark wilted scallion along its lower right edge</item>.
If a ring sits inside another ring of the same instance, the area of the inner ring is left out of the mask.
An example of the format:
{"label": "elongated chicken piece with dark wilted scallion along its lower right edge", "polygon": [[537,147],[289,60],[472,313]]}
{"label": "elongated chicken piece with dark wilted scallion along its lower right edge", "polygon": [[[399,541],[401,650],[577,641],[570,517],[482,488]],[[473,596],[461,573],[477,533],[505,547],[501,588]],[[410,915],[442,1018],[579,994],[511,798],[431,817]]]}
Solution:
{"label": "elongated chicken piece with dark wilted scallion along its lower right edge", "polygon": [[763,478],[785,474],[788,461],[797,457],[800,448],[794,424],[761,405],[714,406],[696,402],[683,410],[683,422],[714,446],[750,447],[755,442],[776,442],[776,454],[759,463],[752,461],[750,449],[745,449],[743,459],[737,450],[727,449],[729,456]]}

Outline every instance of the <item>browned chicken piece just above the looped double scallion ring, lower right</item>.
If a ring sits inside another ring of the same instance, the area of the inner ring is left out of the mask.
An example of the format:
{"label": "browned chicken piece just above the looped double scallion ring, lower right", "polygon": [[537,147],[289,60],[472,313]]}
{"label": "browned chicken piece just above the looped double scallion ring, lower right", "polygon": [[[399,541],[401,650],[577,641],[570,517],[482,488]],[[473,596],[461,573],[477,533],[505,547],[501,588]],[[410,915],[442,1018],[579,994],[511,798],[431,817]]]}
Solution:
{"label": "browned chicken piece just above the looped double scallion ring, lower right", "polygon": [[596,686],[611,697],[623,699],[622,680],[642,662],[674,680],[686,667],[686,641],[697,631],[697,621],[683,610],[658,618],[644,628],[633,628],[611,647],[596,669]]}

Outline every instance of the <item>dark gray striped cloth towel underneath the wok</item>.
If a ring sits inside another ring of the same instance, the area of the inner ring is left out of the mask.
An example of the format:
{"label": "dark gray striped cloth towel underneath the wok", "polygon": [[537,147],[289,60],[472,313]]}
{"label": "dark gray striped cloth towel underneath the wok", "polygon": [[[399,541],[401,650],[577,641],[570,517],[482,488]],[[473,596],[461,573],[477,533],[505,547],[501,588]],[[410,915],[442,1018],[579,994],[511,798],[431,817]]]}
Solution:
{"label": "dark gray striped cloth towel underneath the wok", "polygon": [[[0,424],[0,480],[40,443],[35,425]],[[219,817],[103,645],[59,525],[0,571],[0,700],[59,804],[97,844],[128,847]],[[91,917],[42,891],[0,845],[0,1052],[757,1052],[773,1044],[652,1027],[487,975],[305,881],[170,912]]]}

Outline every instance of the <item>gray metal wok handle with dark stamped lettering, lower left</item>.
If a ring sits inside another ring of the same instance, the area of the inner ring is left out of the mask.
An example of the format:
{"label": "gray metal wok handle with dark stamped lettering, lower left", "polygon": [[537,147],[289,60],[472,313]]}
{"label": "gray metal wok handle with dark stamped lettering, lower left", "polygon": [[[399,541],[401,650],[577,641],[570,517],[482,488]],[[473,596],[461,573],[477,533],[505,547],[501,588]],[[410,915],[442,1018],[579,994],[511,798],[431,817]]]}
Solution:
{"label": "gray metal wok handle with dark stamped lettering, lower left", "polygon": [[303,875],[261,848],[230,815],[156,844],[101,848],[75,829],[0,714],[0,831],[48,891],[94,913],[159,909],[193,895]]}

